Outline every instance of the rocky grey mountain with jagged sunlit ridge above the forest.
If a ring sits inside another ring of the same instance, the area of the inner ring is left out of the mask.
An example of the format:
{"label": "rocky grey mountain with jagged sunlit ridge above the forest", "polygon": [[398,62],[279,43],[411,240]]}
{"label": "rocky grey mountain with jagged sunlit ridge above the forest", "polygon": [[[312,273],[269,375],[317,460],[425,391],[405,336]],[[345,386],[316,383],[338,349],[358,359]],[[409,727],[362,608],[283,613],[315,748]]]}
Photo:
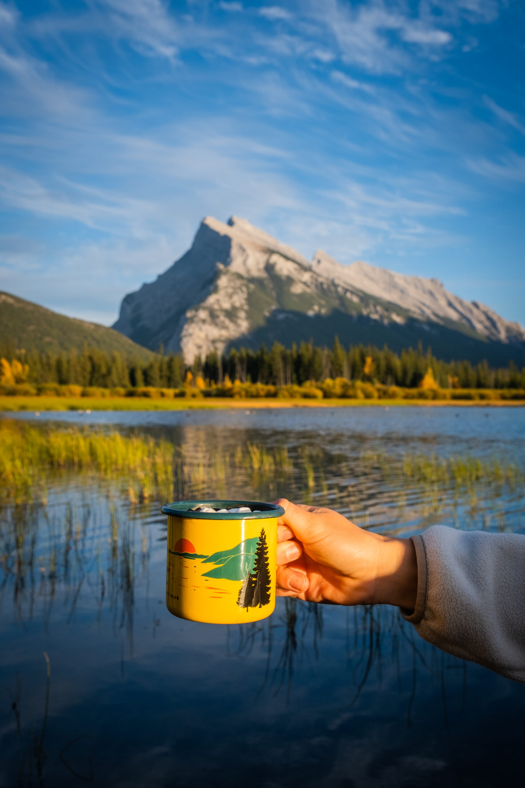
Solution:
{"label": "rocky grey mountain with jagged sunlit ridge above the forest", "polygon": [[334,333],[345,344],[393,349],[419,337],[444,358],[493,363],[500,355],[523,363],[525,350],[522,326],[454,296],[437,279],[365,262],[343,266],[324,251],[310,262],[235,216],[227,224],[206,217],[185,255],[125,296],[113,328],[152,350],[182,351],[187,361],[275,339],[331,343]]}

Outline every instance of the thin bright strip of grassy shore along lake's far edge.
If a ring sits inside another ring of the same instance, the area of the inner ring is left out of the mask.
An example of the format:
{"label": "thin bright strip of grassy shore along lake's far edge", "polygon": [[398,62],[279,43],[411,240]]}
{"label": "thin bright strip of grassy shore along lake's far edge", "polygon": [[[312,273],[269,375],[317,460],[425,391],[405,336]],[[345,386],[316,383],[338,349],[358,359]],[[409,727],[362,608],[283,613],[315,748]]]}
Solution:
{"label": "thin bright strip of grassy shore along lake's far edge", "polygon": [[290,407],[524,407],[525,400],[279,400],[273,397],[233,399],[179,398],[151,399],[149,397],[65,397],[65,396],[0,396],[0,413],[15,411],[201,411],[235,408]]}

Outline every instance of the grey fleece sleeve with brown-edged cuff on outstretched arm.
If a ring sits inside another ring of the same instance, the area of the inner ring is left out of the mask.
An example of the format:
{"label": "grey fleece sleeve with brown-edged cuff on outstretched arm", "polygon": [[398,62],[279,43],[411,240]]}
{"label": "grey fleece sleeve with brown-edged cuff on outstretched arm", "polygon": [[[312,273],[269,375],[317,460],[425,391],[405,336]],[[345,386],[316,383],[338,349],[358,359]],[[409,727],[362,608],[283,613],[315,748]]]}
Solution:
{"label": "grey fleece sleeve with brown-edged cuff on outstretched arm", "polygon": [[462,660],[525,682],[525,536],[432,526],[418,537],[418,634]]}

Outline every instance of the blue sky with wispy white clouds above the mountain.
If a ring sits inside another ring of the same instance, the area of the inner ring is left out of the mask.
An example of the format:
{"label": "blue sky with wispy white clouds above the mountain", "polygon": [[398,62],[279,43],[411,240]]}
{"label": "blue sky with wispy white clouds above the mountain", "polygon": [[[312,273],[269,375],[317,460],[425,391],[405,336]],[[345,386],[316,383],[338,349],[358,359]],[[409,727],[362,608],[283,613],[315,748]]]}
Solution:
{"label": "blue sky with wispy white clouds above the mountain", "polygon": [[0,288],[109,325],[231,214],[525,323],[514,0],[0,0]]}

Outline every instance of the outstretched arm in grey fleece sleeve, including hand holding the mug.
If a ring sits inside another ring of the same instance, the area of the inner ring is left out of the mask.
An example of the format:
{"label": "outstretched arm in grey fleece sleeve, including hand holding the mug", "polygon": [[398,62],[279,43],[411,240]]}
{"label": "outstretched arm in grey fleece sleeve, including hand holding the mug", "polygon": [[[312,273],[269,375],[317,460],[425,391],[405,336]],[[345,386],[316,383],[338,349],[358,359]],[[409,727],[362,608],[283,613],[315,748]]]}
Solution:
{"label": "outstretched arm in grey fleece sleeve, including hand holding the mug", "polygon": [[279,504],[279,596],[397,605],[433,645],[525,682],[525,537],[433,526],[394,539]]}

